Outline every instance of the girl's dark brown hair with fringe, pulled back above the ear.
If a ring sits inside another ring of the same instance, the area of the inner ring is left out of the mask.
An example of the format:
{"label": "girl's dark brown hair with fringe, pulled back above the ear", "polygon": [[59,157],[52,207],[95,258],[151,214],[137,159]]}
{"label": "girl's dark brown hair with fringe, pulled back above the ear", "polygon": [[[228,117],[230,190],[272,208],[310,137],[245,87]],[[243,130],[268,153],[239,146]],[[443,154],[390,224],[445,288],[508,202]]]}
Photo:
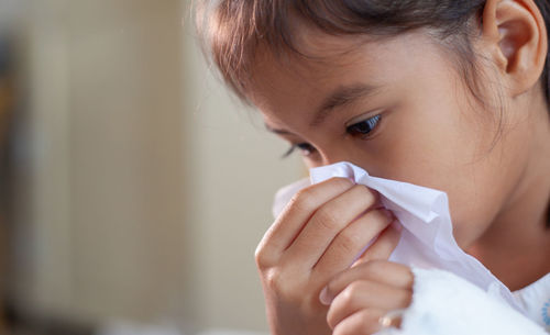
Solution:
{"label": "girl's dark brown hair with fringe, pulled back above the ear", "polygon": [[[224,81],[244,102],[254,58],[260,47],[274,55],[298,56],[293,34],[296,19],[330,35],[395,36],[416,29],[429,29],[439,44],[452,51],[453,64],[473,97],[485,104],[479,85],[472,38],[483,24],[486,0],[218,0],[204,1],[197,25],[204,49]],[[546,26],[550,26],[550,1],[535,0]],[[210,8],[208,8],[210,5]],[[541,76],[550,102],[547,55]],[[550,226],[550,213],[549,226]]]}

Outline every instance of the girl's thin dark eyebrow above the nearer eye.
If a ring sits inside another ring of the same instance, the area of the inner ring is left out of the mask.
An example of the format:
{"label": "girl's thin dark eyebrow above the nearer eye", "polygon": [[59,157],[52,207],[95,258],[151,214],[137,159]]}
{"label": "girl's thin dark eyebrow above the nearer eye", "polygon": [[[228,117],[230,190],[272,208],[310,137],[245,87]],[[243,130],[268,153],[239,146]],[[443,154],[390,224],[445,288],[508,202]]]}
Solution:
{"label": "girl's thin dark eyebrow above the nearer eye", "polygon": [[381,86],[367,83],[354,83],[351,86],[339,87],[332,92],[332,94],[324,99],[321,107],[315,113],[314,120],[309,126],[317,126],[321,124],[337,108],[351,104],[360,98],[373,96],[380,91],[381,88]]}

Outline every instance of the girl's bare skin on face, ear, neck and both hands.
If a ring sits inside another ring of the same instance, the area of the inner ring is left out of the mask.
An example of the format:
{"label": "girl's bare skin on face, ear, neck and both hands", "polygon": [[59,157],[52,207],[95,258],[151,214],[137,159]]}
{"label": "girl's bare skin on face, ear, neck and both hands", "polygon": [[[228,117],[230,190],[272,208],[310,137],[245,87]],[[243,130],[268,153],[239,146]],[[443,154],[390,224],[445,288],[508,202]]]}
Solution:
{"label": "girl's bare skin on face, ear, neck and both hands", "polygon": [[[483,22],[474,48],[486,59],[485,100],[501,101],[502,122],[472,99],[449,52],[424,30],[358,47],[356,36],[300,25],[299,45],[322,60],[264,51],[248,94],[268,129],[307,144],[308,167],[348,160],[446,191],[459,245],[515,290],[550,271],[550,120],[540,81],[548,37],[528,0],[490,0]],[[358,85],[380,88],[311,125],[327,97]],[[369,134],[349,131],[375,115]],[[414,278],[385,260],[399,232],[376,201],[336,178],[300,191],[275,221],[256,249],[273,334],[373,334],[380,316],[408,306]]]}

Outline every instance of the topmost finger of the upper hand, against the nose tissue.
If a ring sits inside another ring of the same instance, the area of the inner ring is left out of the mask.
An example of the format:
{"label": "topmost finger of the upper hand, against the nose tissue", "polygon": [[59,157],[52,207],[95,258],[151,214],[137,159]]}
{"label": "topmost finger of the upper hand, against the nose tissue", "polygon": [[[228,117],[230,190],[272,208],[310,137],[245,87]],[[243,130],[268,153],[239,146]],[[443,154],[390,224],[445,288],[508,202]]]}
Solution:
{"label": "topmost finger of the upper hand, against the nose tissue", "polygon": [[256,248],[258,266],[276,261],[319,206],[353,186],[349,179],[332,178],[296,193],[260,242]]}

